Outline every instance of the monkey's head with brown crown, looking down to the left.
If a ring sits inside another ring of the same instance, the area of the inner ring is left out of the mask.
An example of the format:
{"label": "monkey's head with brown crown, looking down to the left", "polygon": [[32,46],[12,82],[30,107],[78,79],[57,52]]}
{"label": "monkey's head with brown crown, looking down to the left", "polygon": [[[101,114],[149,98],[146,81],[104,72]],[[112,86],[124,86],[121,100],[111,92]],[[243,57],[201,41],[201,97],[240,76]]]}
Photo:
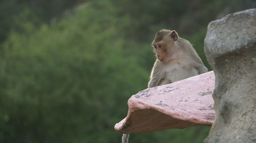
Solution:
{"label": "monkey's head with brown crown, looking down to the left", "polygon": [[179,38],[176,31],[160,30],[152,43],[157,59],[162,63],[172,60],[174,42]]}

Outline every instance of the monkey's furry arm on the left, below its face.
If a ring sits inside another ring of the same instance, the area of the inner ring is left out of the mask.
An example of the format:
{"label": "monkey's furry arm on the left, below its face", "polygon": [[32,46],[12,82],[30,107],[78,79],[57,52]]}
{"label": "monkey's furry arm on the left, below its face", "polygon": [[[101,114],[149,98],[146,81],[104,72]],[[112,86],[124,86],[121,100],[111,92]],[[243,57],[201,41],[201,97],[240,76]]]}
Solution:
{"label": "monkey's furry arm on the left, below its face", "polygon": [[160,67],[159,67],[159,64],[158,63],[159,61],[157,60],[154,64],[154,67],[151,71],[151,75],[150,75],[150,82],[148,82],[148,88],[153,88],[153,87],[156,87],[158,86],[160,80],[161,80],[161,73],[160,73]]}

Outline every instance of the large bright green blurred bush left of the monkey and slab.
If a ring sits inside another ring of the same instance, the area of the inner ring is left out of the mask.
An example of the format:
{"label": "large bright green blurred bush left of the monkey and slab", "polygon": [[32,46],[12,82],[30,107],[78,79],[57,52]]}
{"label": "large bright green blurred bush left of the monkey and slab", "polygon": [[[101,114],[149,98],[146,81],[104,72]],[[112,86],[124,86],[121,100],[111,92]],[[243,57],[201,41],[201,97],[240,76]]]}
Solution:
{"label": "large bright green blurred bush left of the monkey and slab", "polygon": [[125,115],[148,72],[124,56],[114,17],[93,10],[83,6],[52,27],[25,22],[27,33],[10,35],[1,58],[1,142],[116,142],[116,113]]}

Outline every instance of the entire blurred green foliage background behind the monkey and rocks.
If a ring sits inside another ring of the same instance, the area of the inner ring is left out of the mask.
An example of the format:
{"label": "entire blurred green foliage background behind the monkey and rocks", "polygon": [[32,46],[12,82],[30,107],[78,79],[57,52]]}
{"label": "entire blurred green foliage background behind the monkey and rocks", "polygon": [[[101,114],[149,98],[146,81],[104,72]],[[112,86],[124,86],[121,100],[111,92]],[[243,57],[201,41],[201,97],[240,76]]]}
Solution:
{"label": "entire blurred green foliage background behind the monkey and rocks", "polygon": [[[127,99],[146,88],[155,32],[176,29],[209,68],[206,26],[227,2],[98,0],[63,16],[78,1],[1,1],[0,142],[120,142],[114,125],[125,117]],[[203,142],[208,131],[130,139]]]}

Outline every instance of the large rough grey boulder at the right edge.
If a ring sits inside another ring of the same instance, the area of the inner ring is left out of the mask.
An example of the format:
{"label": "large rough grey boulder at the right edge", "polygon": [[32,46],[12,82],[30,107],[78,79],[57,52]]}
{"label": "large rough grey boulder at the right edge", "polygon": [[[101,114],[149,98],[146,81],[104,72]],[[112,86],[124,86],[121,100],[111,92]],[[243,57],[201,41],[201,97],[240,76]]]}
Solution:
{"label": "large rough grey boulder at the right edge", "polygon": [[256,142],[256,9],[211,21],[204,40],[215,71],[216,118],[205,142]]}

